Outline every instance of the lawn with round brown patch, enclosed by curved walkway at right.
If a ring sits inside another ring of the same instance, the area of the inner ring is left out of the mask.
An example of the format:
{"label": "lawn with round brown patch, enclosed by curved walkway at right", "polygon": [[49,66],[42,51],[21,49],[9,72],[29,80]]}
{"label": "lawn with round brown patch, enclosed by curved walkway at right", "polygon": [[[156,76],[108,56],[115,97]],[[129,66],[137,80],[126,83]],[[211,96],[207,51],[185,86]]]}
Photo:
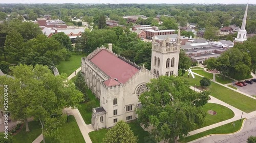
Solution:
{"label": "lawn with round brown patch, enclosed by curved walkway at right", "polygon": [[219,123],[221,121],[225,121],[234,117],[234,112],[231,109],[220,104],[207,103],[203,106],[203,109],[206,112],[208,110],[214,110],[217,112],[217,115],[210,115],[209,113],[206,113],[205,122],[202,127]]}

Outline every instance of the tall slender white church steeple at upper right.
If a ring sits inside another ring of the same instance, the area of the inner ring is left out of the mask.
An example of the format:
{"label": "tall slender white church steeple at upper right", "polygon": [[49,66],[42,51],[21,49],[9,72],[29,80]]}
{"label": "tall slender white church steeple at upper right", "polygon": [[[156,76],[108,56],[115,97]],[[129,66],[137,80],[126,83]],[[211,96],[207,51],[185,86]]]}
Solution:
{"label": "tall slender white church steeple at upper right", "polygon": [[248,11],[248,3],[247,3],[247,6],[246,6],[246,9],[245,9],[244,19],[243,19],[243,23],[242,23],[241,29],[240,29],[239,32],[238,32],[237,38],[234,39],[234,43],[236,43],[236,42],[242,43],[242,42],[244,42],[245,40],[247,40],[247,38],[246,38],[247,32],[246,32],[246,30],[245,30],[246,18],[247,18],[247,11]]}

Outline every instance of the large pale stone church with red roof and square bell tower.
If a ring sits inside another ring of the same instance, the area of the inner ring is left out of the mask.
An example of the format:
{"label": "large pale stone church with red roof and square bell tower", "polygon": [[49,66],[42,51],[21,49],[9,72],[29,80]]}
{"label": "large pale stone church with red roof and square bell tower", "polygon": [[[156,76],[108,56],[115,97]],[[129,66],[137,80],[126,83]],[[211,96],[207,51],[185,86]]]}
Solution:
{"label": "large pale stone church with red roof and square bell tower", "polygon": [[178,44],[153,40],[152,72],[115,54],[111,43],[108,49],[102,46],[82,58],[86,83],[100,101],[100,107],[93,108],[92,113],[95,130],[136,119],[135,108],[141,106],[138,97],[147,91],[146,83],[160,75],[178,74],[179,42],[179,34]]}

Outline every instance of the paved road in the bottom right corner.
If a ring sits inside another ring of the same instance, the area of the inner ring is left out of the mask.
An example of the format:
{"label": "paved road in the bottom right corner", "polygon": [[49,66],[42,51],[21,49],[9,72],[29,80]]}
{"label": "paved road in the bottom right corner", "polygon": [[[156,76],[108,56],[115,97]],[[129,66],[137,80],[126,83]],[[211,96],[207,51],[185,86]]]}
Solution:
{"label": "paved road in the bottom right corner", "polygon": [[256,136],[256,117],[245,121],[241,132],[232,135],[209,136],[194,143],[246,143],[249,136]]}

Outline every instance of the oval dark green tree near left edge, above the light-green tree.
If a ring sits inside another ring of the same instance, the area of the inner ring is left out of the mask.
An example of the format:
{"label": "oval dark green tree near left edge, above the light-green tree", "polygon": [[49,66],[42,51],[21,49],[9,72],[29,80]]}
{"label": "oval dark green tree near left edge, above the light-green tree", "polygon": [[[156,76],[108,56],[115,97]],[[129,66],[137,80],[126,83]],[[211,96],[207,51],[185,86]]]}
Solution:
{"label": "oval dark green tree near left edge, above the light-green tree", "polygon": [[19,61],[25,55],[26,49],[24,47],[24,39],[22,35],[20,35],[16,31],[11,31],[6,36],[5,40],[5,51],[8,55]]}

